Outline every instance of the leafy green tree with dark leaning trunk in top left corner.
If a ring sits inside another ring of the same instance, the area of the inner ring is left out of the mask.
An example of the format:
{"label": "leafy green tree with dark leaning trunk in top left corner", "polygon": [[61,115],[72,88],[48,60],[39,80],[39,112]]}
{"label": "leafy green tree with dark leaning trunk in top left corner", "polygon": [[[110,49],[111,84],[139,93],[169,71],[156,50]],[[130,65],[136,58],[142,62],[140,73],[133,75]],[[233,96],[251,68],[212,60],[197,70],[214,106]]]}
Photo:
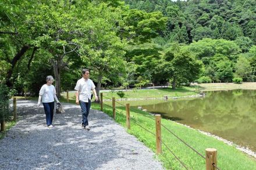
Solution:
{"label": "leafy green tree with dark leaning trunk in top left corner", "polygon": [[29,41],[31,32],[26,30],[23,24],[31,8],[30,2],[0,2],[1,59],[5,61],[1,62],[5,68],[1,79],[5,79],[9,87],[15,81],[12,75],[16,64],[23,59],[22,57],[28,50],[33,49]]}

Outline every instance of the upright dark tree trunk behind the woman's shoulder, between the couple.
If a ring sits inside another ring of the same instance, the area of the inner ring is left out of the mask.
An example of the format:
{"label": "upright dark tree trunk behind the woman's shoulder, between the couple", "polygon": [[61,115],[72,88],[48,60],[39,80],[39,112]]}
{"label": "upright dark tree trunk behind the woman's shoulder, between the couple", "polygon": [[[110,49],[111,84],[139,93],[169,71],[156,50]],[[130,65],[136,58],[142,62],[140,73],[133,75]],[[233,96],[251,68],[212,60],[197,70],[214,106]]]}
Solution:
{"label": "upright dark tree trunk behind the woman's shoulder, between the couple", "polygon": [[56,96],[59,99],[61,98],[61,57],[58,56],[56,60],[53,60],[52,66],[54,66]]}

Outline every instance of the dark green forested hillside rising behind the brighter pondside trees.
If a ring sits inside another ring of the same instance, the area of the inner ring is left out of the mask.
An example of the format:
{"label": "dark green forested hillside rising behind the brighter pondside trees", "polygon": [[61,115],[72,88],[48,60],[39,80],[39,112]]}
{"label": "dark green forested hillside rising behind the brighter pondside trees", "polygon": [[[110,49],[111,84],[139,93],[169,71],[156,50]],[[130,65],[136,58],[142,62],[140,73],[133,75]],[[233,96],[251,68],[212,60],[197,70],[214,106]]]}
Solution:
{"label": "dark green forested hillside rising behind the brighter pondside trees", "polygon": [[190,44],[202,38],[227,39],[244,42],[240,46],[248,52],[256,44],[255,0],[191,0],[133,1],[126,0],[132,9],[146,12],[161,11],[168,17],[165,42]]}

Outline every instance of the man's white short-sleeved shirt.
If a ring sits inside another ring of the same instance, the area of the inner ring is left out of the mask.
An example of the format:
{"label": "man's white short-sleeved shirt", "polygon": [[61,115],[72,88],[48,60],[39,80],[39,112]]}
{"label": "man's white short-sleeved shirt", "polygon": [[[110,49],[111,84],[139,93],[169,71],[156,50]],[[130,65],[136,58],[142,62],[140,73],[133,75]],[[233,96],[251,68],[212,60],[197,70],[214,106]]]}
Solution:
{"label": "man's white short-sleeved shirt", "polygon": [[95,85],[91,79],[81,78],[77,81],[76,87],[74,89],[79,91],[79,100],[88,102],[88,100],[91,100],[91,90],[94,88]]}

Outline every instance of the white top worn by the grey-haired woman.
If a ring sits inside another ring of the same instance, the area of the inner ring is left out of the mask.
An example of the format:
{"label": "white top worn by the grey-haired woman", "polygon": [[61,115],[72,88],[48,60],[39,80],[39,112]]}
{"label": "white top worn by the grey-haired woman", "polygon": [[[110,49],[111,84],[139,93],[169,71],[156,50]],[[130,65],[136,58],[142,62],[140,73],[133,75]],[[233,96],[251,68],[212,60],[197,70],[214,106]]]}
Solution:
{"label": "white top worn by the grey-haired woman", "polygon": [[54,102],[54,95],[56,95],[56,90],[54,85],[42,85],[39,95],[42,96],[42,103]]}

